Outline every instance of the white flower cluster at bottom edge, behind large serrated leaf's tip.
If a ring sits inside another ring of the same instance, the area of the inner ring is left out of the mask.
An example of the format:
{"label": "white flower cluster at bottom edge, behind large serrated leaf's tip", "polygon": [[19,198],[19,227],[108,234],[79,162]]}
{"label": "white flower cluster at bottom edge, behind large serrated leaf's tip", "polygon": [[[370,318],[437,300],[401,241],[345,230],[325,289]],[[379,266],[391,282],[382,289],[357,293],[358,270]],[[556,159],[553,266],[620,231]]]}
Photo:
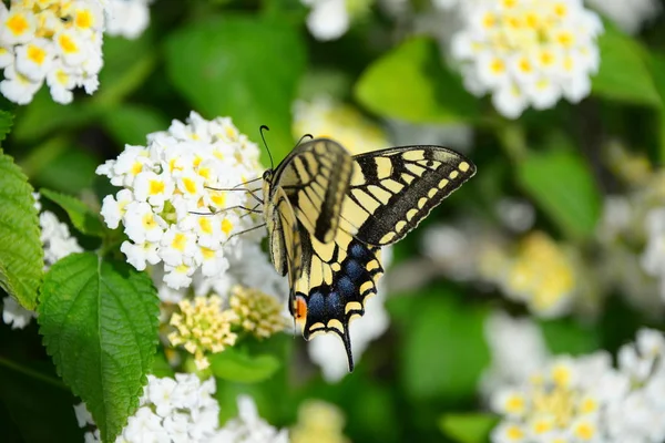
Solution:
{"label": "white flower cluster at bottom edge, behind large serrated leaf's tip", "polygon": [[[147,375],[140,408],[115,442],[223,442],[217,440],[215,390],[214,378],[201,382],[195,374],[177,373],[174,379]],[[84,403],[74,405],[74,412],[80,427],[94,425]],[[99,431],[88,432],[85,442],[101,442]]]}

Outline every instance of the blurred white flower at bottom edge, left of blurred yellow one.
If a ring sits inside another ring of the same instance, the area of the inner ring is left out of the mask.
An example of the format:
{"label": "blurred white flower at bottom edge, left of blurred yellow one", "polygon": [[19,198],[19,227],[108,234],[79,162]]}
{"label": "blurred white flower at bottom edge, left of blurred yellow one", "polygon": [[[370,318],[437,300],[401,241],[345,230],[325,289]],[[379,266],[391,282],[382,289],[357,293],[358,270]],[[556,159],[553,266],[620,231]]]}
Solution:
{"label": "blurred white flower at bottom edge, left of blurred yellow one", "polygon": [[214,442],[234,443],[288,443],[288,431],[270,426],[258,415],[254,399],[241,395],[238,401],[238,416],[226,422]]}

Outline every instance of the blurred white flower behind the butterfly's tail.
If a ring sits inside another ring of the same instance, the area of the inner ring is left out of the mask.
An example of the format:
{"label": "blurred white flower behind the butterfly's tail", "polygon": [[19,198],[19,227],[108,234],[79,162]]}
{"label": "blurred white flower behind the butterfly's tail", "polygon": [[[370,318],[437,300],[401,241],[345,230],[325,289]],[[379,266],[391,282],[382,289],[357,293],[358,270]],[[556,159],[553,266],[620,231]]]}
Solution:
{"label": "blurred white flower behind the butterfly's tail", "polygon": [[[382,248],[381,258],[383,269],[387,269],[392,260],[392,249],[390,247]],[[354,327],[349,328],[356,363],[369,343],[381,337],[390,326],[390,318],[385,306],[387,289],[383,280],[379,281],[377,295],[367,299],[365,303],[365,316],[356,318]],[[320,367],[326,381],[334,383],[349,374],[348,358],[336,334],[317,334],[307,342],[307,353],[311,361]]]}

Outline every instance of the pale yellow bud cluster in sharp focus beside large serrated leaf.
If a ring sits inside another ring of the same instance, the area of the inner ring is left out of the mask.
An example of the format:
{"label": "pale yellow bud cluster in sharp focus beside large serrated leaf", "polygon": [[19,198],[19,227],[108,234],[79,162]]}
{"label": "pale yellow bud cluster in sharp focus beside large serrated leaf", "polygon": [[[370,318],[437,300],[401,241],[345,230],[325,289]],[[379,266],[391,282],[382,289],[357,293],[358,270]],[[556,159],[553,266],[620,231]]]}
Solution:
{"label": "pale yellow bud cluster in sharp focus beside large serrated leaf", "polygon": [[194,302],[182,300],[178,303],[181,313],[171,317],[171,326],[175,331],[168,334],[173,346],[183,346],[194,356],[198,370],[209,365],[206,353],[222,352],[235,344],[237,334],[232,326],[238,318],[233,310],[222,309],[218,296],[196,297]]}

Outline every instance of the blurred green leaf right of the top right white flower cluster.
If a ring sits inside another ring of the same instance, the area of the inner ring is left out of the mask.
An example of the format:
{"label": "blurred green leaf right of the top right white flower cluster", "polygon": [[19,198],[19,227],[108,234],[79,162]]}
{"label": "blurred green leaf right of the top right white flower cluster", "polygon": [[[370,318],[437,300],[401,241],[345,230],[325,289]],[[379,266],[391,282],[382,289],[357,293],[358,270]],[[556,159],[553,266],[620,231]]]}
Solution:
{"label": "blurred green leaf right of the top right white flower cluster", "polygon": [[606,25],[598,38],[601,68],[592,78],[592,93],[610,100],[662,107],[645,60],[645,51],[633,38]]}

